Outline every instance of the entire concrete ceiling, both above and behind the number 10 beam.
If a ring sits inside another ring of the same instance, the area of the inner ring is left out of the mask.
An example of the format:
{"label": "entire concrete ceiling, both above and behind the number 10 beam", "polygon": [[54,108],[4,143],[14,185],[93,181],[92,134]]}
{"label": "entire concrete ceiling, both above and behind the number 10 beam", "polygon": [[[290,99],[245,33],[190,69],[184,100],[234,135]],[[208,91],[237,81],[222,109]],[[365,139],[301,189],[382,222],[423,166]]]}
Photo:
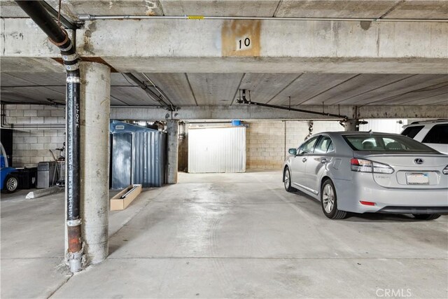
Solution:
{"label": "entire concrete ceiling, both above and behind the number 10 beam", "polygon": [[[47,1],[57,8],[57,0]],[[25,18],[14,1],[1,18]],[[62,14],[222,15],[312,18],[447,18],[448,1],[62,1]],[[8,63],[8,60],[3,60]],[[56,63],[52,61],[54,67]],[[50,65],[50,64],[48,64]],[[140,74],[135,74],[145,81]],[[297,105],[448,104],[448,76],[437,74],[146,74],[176,106],[235,104],[239,89],[254,102]],[[149,83],[148,83],[149,84]],[[1,73],[1,101],[64,103],[64,74]],[[158,106],[123,74],[111,74],[111,105]]]}

